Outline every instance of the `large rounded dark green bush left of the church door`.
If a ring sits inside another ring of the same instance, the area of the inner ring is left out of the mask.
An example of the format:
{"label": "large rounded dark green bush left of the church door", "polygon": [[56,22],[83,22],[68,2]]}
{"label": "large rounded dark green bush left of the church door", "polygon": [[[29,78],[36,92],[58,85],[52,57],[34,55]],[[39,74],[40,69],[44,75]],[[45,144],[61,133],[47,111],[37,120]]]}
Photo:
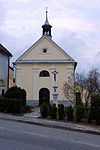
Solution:
{"label": "large rounded dark green bush left of the church door", "polygon": [[15,98],[15,99],[22,99],[23,100],[23,106],[26,105],[26,91],[24,89],[21,89],[20,87],[11,87],[9,88],[5,95],[5,98]]}

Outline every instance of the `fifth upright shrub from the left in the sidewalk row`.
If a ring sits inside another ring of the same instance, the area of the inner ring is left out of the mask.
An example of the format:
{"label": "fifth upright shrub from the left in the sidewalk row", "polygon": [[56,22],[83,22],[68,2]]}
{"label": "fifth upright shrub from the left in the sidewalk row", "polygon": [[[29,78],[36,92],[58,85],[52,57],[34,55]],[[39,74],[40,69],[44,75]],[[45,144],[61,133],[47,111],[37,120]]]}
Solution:
{"label": "fifth upright shrub from the left in the sidewalk row", "polygon": [[83,116],[84,116],[84,106],[77,105],[75,108],[75,119],[76,119],[76,121],[81,122]]}

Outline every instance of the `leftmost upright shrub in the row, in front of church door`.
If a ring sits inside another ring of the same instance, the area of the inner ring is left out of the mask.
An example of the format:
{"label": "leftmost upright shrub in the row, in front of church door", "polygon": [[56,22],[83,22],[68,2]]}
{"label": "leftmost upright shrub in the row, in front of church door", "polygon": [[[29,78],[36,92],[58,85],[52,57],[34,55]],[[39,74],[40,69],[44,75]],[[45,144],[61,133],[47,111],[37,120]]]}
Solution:
{"label": "leftmost upright shrub in the row, in front of church door", "polygon": [[40,107],[40,113],[43,118],[47,118],[48,116],[48,104],[43,103]]}

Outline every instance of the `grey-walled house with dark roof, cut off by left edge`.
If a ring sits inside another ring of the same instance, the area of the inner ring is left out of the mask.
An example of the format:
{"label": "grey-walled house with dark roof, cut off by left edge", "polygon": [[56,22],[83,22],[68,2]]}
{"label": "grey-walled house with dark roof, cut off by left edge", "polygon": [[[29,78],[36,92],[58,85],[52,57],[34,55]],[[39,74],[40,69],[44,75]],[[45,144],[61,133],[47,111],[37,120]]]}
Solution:
{"label": "grey-walled house with dark roof, cut off by left edge", "polygon": [[0,44],[0,96],[3,96],[9,87],[9,63],[12,54]]}

